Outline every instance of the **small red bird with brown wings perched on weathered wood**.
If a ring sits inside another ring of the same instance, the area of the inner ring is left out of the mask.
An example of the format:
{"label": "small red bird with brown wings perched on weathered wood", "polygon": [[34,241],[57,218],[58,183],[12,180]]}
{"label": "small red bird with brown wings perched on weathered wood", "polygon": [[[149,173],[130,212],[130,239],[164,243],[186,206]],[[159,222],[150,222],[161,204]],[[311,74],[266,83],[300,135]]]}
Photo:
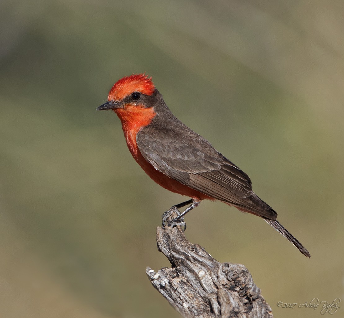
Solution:
{"label": "small red bird with brown wings perched on weathered wood", "polygon": [[144,172],[165,189],[191,198],[174,206],[190,204],[179,217],[202,200],[218,200],[263,218],[310,258],[277,221],[276,211],[252,191],[249,176],[177,119],[146,73],[121,78],[107,99],[97,110],[117,114],[129,151]]}

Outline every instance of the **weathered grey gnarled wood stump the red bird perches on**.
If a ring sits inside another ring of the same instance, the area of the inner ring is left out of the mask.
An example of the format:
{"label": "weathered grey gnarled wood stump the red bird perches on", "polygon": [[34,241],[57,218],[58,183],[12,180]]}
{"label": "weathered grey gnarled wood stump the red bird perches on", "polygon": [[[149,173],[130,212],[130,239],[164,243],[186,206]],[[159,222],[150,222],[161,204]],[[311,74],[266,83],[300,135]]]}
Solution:
{"label": "weathered grey gnarled wood stump the red bird perches on", "polygon": [[158,227],[157,244],[172,267],[158,273],[147,267],[146,273],[182,316],[272,318],[271,307],[244,265],[219,263],[203,247],[191,244],[182,226]]}

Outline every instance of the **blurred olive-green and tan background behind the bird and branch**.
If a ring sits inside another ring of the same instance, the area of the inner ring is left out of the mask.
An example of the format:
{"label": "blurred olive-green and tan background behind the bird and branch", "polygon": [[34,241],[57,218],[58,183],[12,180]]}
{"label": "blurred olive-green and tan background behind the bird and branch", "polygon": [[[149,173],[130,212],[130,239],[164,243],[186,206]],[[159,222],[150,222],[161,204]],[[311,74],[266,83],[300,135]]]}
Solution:
{"label": "blurred olive-green and tan background behind the bird and branch", "polygon": [[115,114],[96,111],[140,72],[312,258],[223,203],[187,215],[190,242],[244,264],[275,317],[320,316],[278,301],[343,299],[343,1],[0,6],[1,317],[179,317],[145,269],[169,266],[155,229],[184,198],[144,174]]}

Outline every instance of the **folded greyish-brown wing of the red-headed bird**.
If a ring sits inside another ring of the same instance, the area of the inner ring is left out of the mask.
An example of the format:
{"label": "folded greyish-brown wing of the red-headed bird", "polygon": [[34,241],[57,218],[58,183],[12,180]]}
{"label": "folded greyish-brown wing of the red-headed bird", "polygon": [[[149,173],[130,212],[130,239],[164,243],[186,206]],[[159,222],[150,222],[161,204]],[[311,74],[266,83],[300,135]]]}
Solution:
{"label": "folded greyish-brown wing of the red-headed bird", "polygon": [[241,211],[276,219],[276,212],[252,191],[246,173],[203,137],[177,124],[178,129],[147,127],[137,134],[141,154],[155,169]]}

